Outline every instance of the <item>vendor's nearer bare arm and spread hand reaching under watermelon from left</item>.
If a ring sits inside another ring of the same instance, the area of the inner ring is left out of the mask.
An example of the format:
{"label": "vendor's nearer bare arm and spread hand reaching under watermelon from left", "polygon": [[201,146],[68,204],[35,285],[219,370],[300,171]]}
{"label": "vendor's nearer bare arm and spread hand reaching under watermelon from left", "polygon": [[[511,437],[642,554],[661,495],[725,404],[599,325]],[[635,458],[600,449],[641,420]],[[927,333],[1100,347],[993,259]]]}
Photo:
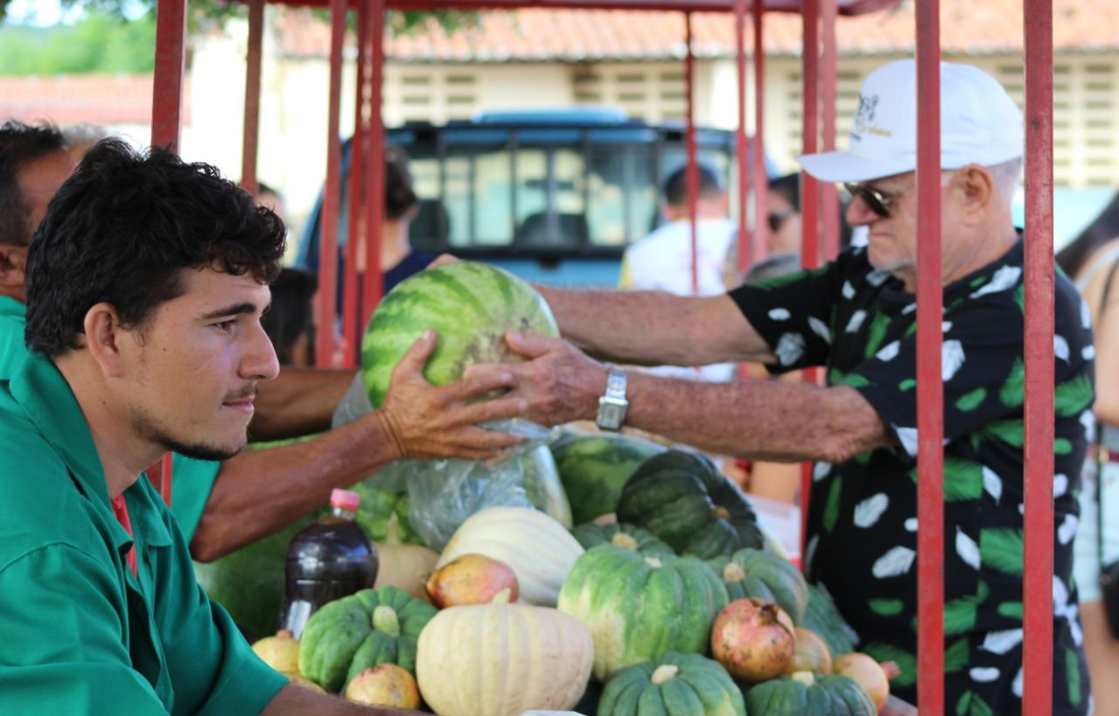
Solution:
{"label": "vendor's nearer bare arm and spread hand reaching under watermelon from left", "polygon": [[507,370],[432,387],[423,366],[434,335],[421,338],[393,371],[385,404],[325,435],[295,445],[251,450],[222,463],[190,540],[195,559],[210,562],[271,535],[327,503],[333,488],[354,484],[399,458],[489,460],[520,439],[477,424],[524,415],[517,396],[468,404],[510,387]]}

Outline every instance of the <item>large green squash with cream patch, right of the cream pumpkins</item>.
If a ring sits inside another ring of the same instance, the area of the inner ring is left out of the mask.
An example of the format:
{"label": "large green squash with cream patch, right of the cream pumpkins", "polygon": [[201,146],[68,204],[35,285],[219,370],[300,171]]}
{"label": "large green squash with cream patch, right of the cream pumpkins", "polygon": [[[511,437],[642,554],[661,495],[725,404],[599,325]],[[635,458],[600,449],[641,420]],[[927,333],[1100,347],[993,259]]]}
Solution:
{"label": "large green squash with cream patch, right of the cream pumpkins", "polygon": [[726,588],[702,559],[599,545],[575,560],[557,606],[591,631],[594,676],[605,679],[668,651],[706,653],[726,604]]}

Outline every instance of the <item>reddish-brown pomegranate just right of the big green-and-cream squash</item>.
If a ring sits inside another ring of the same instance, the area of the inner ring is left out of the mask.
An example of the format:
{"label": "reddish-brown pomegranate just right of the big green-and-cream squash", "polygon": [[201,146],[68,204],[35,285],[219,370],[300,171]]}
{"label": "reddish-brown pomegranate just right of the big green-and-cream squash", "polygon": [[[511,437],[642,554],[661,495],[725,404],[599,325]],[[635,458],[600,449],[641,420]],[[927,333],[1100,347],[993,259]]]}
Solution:
{"label": "reddish-brown pomegranate just right of the big green-and-cream squash", "polygon": [[792,620],[771,602],[735,600],[715,618],[711,648],[734,677],[751,684],[777,678],[796,651]]}

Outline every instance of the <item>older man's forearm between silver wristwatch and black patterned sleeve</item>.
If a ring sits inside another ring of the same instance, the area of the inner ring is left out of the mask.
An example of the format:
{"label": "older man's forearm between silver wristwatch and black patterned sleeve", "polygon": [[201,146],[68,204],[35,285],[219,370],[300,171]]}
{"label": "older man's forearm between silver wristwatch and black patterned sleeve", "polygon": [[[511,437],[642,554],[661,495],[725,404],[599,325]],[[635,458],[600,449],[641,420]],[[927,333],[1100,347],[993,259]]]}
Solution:
{"label": "older man's forearm between silver wristwatch and black patterned sleeve", "polygon": [[626,424],[751,460],[843,462],[891,444],[853,388],[777,380],[698,383],[630,373]]}

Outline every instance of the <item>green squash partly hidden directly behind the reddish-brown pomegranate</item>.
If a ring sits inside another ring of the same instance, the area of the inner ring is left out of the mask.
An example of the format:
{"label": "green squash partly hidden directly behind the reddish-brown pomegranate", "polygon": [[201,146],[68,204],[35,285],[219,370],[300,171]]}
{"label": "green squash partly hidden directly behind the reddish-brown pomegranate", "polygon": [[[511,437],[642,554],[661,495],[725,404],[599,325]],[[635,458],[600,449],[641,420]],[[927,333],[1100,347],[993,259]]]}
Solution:
{"label": "green squash partly hidden directly behind the reddish-brown pomegranate", "polygon": [[723,578],[732,602],[756,596],[783,609],[793,623],[803,621],[808,584],[800,569],[788,559],[746,547],[730,557],[715,557],[708,564]]}

